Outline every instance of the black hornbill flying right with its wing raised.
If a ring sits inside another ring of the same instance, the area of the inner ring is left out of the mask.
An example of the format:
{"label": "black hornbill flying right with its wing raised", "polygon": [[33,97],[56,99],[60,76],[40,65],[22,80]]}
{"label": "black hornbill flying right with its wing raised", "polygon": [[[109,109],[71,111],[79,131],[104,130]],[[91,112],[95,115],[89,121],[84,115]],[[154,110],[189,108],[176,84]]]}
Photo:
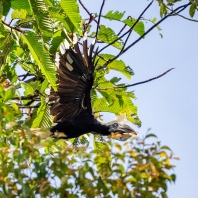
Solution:
{"label": "black hornbill flying right with its wing raised", "polygon": [[73,47],[65,42],[65,48],[61,48],[62,54],[56,54],[58,91],[52,90],[50,93],[50,99],[55,100],[50,113],[57,123],[50,130],[53,137],[68,139],[93,133],[126,140],[136,134],[120,119],[102,124],[93,115],[91,89],[97,64],[94,45],[95,42],[92,42],[87,47],[85,36],[82,53],[76,39]]}

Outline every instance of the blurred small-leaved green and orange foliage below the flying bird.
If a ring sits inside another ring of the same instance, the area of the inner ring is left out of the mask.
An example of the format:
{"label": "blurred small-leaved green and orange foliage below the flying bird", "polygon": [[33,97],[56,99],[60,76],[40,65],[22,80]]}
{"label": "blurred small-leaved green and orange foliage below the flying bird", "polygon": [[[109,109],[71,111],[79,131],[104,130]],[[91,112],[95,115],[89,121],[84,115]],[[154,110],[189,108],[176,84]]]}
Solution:
{"label": "blurred small-leaved green and orange foliage below the flying bird", "polygon": [[62,140],[39,150],[38,137],[30,136],[1,138],[1,197],[166,197],[167,182],[176,179],[172,151],[147,143],[153,134],[88,152]]}

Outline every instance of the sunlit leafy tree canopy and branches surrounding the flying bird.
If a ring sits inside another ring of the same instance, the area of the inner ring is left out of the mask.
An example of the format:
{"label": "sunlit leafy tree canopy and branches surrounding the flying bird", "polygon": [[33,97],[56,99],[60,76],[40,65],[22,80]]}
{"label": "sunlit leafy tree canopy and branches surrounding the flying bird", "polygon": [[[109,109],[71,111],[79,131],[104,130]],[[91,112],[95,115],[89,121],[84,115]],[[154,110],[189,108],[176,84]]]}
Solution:
{"label": "sunlit leafy tree canopy and branches surrounding the flying bird", "polygon": [[[193,21],[198,6],[196,0],[184,4],[149,1],[134,18],[119,10],[103,13],[104,3],[92,13],[81,0],[0,0],[2,197],[167,197],[167,182],[175,182],[175,174],[169,171],[175,158],[171,149],[160,141],[146,142],[154,134],[121,145],[94,136],[89,150],[87,135],[41,142],[30,130],[52,126],[49,88],[57,89],[54,55],[64,40],[72,46],[75,35],[80,43],[85,32],[88,41],[97,38],[99,46],[92,89],[95,116],[101,119],[102,112],[126,114],[128,121],[141,126],[133,103],[136,97],[127,90],[138,83],[128,85],[116,76],[109,79],[107,74],[114,70],[131,79],[134,72],[122,55],[154,28],[160,31],[160,23],[168,17],[182,17],[182,11],[189,9],[190,18],[186,19]],[[144,18],[154,3],[159,5],[161,19]],[[87,15],[82,16],[80,10]],[[109,25],[115,23],[119,32]],[[132,32],[136,40],[131,39]]]}

